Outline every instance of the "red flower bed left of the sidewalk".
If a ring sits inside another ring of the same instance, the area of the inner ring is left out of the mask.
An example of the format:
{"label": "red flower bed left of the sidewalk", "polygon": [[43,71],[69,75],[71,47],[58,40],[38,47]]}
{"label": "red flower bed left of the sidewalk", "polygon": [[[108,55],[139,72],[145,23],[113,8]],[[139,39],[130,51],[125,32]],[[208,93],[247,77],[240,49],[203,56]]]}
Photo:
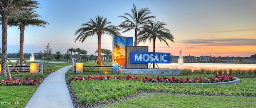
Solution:
{"label": "red flower bed left of the sidewalk", "polygon": [[30,80],[28,77],[26,77],[26,80],[15,80],[15,78],[13,78],[12,80],[10,78],[7,78],[7,80],[2,80],[0,82],[1,86],[12,86],[12,85],[37,85],[42,83],[42,81],[38,81],[37,79],[34,80]]}

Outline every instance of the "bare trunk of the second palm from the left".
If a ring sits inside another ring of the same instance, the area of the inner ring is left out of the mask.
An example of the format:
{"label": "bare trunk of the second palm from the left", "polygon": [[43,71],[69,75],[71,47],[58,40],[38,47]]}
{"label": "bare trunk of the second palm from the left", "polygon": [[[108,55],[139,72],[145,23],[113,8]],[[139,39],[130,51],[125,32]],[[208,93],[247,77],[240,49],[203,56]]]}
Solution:
{"label": "bare trunk of the second palm from the left", "polygon": [[20,26],[20,69],[23,69],[24,30],[25,26]]}

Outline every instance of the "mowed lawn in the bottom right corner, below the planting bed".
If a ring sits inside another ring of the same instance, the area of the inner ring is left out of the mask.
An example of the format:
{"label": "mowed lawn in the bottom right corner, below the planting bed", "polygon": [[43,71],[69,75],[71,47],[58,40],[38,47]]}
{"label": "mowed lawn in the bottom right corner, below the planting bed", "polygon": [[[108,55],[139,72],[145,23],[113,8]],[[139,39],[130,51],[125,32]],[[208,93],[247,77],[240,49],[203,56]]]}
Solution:
{"label": "mowed lawn in the bottom right corner, below the planting bed", "polygon": [[255,97],[147,93],[99,108],[255,108]]}

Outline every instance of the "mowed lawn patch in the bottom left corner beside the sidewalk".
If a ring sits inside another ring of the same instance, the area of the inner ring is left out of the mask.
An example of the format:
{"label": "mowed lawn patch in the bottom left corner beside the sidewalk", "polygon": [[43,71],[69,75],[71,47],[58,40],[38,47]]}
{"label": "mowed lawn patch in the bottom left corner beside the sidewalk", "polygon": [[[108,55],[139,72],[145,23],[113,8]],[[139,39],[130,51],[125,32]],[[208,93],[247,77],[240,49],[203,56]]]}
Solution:
{"label": "mowed lawn patch in the bottom left corner beside the sidewalk", "polygon": [[[2,86],[0,87],[0,102],[10,102],[10,104],[0,104],[0,108],[24,108],[34,94],[37,86]],[[12,104],[11,102],[20,102]]]}

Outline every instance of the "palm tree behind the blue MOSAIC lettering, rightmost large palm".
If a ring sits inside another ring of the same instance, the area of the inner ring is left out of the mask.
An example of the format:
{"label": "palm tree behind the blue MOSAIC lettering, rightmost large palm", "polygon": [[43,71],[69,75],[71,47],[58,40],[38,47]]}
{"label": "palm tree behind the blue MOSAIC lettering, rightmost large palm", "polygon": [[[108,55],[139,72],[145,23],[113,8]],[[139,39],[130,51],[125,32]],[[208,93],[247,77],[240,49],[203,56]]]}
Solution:
{"label": "palm tree behind the blue MOSAIC lettering, rightmost large palm", "polygon": [[[158,38],[160,42],[164,41],[169,47],[166,40],[170,40],[175,43],[174,36],[170,33],[170,30],[164,28],[166,25],[164,22],[156,21],[156,20],[148,20],[148,24],[143,27],[143,30],[138,34],[138,42],[143,42],[145,44],[146,41],[153,40],[153,52],[155,52],[156,39]],[[153,68],[155,68],[155,64],[153,64]]]}

